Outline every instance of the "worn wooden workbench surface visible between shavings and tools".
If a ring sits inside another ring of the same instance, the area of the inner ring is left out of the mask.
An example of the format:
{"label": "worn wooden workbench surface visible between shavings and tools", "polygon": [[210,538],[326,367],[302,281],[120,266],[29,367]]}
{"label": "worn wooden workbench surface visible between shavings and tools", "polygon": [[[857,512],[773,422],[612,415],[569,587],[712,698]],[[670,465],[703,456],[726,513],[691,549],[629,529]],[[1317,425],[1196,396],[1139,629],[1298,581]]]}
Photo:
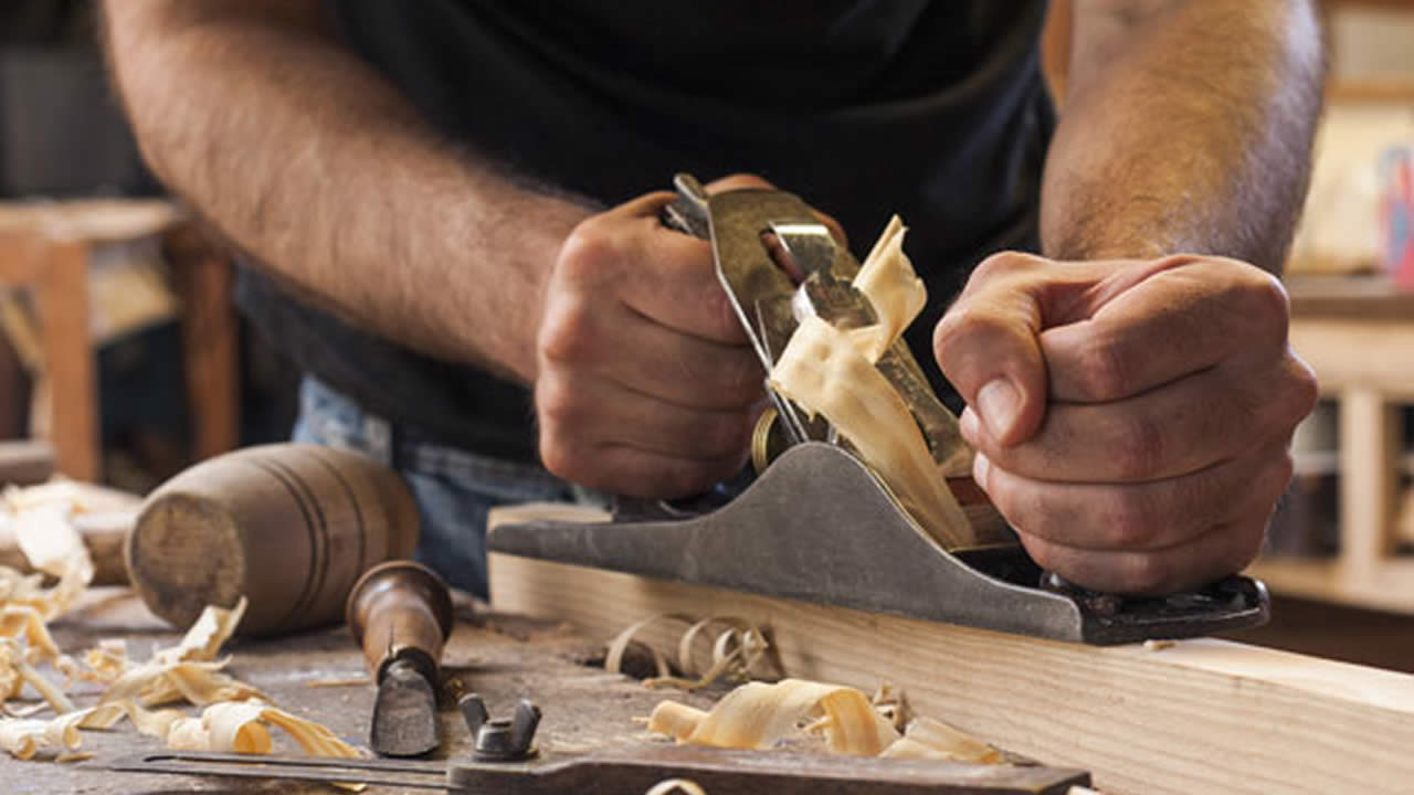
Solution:
{"label": "worn wooden workbench surface visible between shavings and tools", "polygon": [[[146,659],[154,646],[175,642],[178,632],[153,617],[124,588],[95,588],[81,610],[54,624],[59,645],[75,652],[100,638],[123,637],[134,659]],[[665,693],[648,690],[636,680],[583,665],[600,644],[575,637],[564,625],[536,622],[492,613],[472,615],[460,603],[457,628],[443,655],[444,696],[458,686],[481,693],[492,717],[509,716],[516,700],[529,697],[543,710],[537,744],[547,751],[578,751],[652,741],[635,716],[648,716]],[[368,723],[373,707],[373,685],[311,686],[317,682],[365,676],[363,661],[344,627],[267,641],[232,641],[228,671],[264,690],[277,706],[327,724],[344,740],[368,747]],[[76,689],[75,702],[88,706],[96,687]],[[707,706],[711,696],[673,693],[673,699]],[[443,704],[444,745],[440,757],[469,750],[467,727],[451,699]],[[197,707],[182,707],[197,714]],[[271,730],[276,750],[298,753],[279,730]],[[96,770],[107,755],[160,750],[151,737],[137,734],[123,721],[113,731],[85,731],[82,751],[90,761],[58,764],[17,761],[0,754],[0,791],[14,794],[75,792],[164,794],[177,792],[337,792],[327,785],[218,779],[177,775],[119,774]],[[396,792],[369,788],[369,794]],[[409,791],[419,792],[419,791]],[[424,792],[424,791],[421,791]]]}

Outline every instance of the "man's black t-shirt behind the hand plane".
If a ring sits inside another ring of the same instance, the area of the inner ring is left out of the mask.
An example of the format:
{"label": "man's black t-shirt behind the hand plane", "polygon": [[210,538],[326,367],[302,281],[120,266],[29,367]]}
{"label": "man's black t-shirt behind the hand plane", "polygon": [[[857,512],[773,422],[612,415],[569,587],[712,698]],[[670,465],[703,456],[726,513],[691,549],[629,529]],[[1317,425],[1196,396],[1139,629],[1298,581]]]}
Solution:
{"label": "man's black t-shirt behind the hand plane", "polygon": [[[443,134],[536,182],[608,207],[677,171],[758,173],[839,218],[855,249],[898,212],[930,297],[908,338],[937,385],[932,327],[969,269],[1035,246],[1053,127],[1045,0],[327,6]],[[536,458],[525,389],[355,330],[253,272],[240,301],[369,410],[444,444]]]}

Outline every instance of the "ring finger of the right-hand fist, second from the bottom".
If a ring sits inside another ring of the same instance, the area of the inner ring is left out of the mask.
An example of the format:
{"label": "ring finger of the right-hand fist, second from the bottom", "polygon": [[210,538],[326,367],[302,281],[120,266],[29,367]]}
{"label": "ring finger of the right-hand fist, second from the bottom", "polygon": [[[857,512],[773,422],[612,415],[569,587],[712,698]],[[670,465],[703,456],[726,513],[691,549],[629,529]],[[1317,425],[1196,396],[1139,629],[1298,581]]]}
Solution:
{"label": "ring finger of the right-hand fist, second from the bottom", "polygon": [[1215,525],[1271,511],[1291,480],[1285,446],[1145,484],[1062,484],[1010,472],[978,454],[973,477],[1018,532],[1089,550],[1158,550]]}

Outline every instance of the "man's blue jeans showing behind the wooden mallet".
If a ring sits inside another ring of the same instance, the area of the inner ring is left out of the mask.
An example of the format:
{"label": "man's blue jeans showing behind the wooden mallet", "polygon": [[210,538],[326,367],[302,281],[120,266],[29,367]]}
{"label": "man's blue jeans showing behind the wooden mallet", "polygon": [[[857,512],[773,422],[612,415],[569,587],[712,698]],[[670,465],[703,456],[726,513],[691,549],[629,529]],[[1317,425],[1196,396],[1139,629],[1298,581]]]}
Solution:
{"label": "man's blue jeans showing behind the wooden mallet", "polygon": [[486,512],[496,505],[585,499],[533,464],[399,439],[385,419],[314,376],[300,385],[294,441],[355,450],[403,475],[421,513],[417,560],[450,584],[486,596]]}

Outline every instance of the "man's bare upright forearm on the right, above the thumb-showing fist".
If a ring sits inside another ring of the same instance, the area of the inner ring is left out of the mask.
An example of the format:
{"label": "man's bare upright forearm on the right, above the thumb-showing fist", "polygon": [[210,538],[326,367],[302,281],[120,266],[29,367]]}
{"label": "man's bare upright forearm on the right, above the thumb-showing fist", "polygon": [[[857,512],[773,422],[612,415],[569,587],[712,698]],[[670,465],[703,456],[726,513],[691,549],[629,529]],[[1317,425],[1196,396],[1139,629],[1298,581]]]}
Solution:
{"label": "man's bare upright forearm on the right, above the thumb-showing fist", "polygon": [[1213,253],[1280,273],[1305,195],[1322,55],[1307,0],[1076,0],[1046,158],[1056,259]]}

